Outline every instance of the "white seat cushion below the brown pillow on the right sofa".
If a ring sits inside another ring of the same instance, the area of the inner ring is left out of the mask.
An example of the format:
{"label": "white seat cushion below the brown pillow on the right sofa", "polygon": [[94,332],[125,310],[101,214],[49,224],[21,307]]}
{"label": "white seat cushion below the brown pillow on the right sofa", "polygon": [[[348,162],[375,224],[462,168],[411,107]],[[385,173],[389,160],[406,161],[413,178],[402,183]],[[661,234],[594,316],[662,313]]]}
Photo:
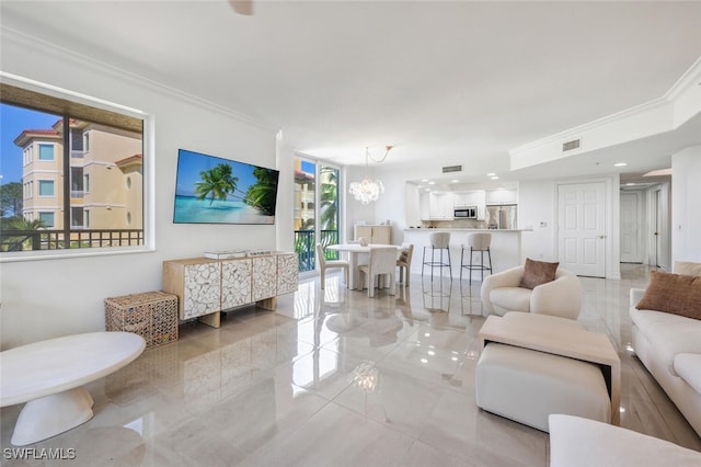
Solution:
{"label": "white seat cushion below the brown pillow on the right sofa", "polygon": [[701,321],[663,311],[631,309],[631,319],[667,365],[675,369],[675,357],[681,353],[701,354]]}

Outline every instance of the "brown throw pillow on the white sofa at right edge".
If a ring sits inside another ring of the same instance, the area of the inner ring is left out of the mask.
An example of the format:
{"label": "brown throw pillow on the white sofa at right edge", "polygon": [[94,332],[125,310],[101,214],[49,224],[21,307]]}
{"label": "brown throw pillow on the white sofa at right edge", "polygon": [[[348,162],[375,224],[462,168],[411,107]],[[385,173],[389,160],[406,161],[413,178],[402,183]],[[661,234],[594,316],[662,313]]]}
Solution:
{"label": "brown throw pillow on the white sofa at right edge", "polygon": [[701,319],[701,277],[651,271],[645,295],[635,308]]}

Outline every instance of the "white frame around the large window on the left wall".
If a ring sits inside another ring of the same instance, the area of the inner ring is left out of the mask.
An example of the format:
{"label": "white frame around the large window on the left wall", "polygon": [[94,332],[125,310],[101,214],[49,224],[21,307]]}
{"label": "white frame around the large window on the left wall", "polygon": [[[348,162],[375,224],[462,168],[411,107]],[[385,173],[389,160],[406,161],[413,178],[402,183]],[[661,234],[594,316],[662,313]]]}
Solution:
{"label": "white frame around the large window on the left wall", "polygon": [[[81,258],[102,257],[114,254],[133,254],[156,251],[156,148],[154,130],[156,122],[153,115],[126,105],[105,101],[100,98],[90,96],[80,92],[58,88],[41,81],[35,81],[16,75],[0,71],[0,82],[26,91],[45,94],[50,98],[70,101],[78,105],[90,106],[105,112],[124,115],[140,119],[141,126],[141,170],[142,170],[142,215],[143,215],[143,242],[131,247],[104,247],[90,249],[58,249],[39,251],[0,252],[0,263],[49,260],[57,258]],[[35,110],[49,112],[48,109]],[[38,155],[28,155],[31,159],[37,161]],[[89,215],[88,215],[89,216]],[[84,219],[85,220],[85,219]],[[85,220],[85,223],[89,223]],[[89,227],[87,227],[89,228]]]}

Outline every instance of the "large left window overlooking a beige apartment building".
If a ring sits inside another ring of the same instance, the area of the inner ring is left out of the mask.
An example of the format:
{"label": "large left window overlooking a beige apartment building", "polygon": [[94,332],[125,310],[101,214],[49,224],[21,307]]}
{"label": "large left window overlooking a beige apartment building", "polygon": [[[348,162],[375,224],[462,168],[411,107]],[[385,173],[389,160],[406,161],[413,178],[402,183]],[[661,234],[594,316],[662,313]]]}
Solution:
{"label": "large left window overlooking a beige apartment building", "polygon": [[[0,231],[0,261],[27,258],[36,250],[45,250],[37,253],[44,257],[152,249],[147,244],[152,237],[145,234],[152,216],[143,201],[150,194],[143,176],[147,115],[2,71],[0,77],[0,138],[3,148],[12,148],[0,153],[0,184],[16,185],[21,200],[15,216],[27,220],[0,224],[2,230],[23,230]],[[10,122],[23,126],[18,129]],[[27,229],[39,228],[31,219],[42,221],[41,241],[20,242]],[[82,251],[65,251],[78,249]]]}

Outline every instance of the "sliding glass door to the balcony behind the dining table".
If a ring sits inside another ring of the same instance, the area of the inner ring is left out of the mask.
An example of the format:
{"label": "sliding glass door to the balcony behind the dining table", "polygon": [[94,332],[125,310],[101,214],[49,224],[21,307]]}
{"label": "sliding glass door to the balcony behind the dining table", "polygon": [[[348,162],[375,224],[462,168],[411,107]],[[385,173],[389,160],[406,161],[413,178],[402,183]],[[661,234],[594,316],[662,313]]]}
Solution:
{"label": "sliding glass door to the balcony behind the dining table", "polygon": [[[340,169],[321,161],[295,158],[295,251],[299,272],[317,269],[315,246],[335,244],[340,231]],[[326,259],[337,252],[326,251]]]}

